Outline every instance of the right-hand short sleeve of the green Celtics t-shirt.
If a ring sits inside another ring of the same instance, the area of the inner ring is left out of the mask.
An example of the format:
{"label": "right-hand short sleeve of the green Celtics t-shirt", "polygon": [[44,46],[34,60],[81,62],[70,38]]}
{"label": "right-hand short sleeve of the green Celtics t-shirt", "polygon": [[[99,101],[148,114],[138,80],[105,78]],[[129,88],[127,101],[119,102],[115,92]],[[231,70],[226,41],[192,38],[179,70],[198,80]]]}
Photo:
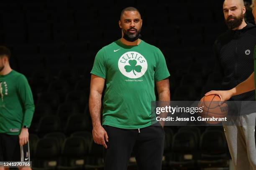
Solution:
{"label": "right-hand short sleeve of the green Celtics t-shirt", "polygon": [[166,61],[164,58],[163,53],[159,48],[157,48],[158,56],[156,57],[156,69],[155,69],[155,81],[158,82],[160,80],[164,80],[165,78],[170,76],[170,73],[168,71]]}

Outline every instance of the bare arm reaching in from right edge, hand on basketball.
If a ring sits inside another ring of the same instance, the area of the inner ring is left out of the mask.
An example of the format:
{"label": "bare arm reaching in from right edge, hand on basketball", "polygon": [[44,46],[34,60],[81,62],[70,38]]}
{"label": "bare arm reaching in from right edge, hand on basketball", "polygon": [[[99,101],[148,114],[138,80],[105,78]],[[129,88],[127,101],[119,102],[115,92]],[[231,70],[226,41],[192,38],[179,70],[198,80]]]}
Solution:
{"label": "bare arm reaching in from right edge, hand on basketball", "polygon": [[229,100],[234,95],[240,95],[245,92],[249,92],[254,90],[254,72],[248,77],[246,80],[241,82],[239,85],[234,87],[230,90],[223,90],[223,91],[210,91],[207,92],[205,95],[219,95],[222,101]]}

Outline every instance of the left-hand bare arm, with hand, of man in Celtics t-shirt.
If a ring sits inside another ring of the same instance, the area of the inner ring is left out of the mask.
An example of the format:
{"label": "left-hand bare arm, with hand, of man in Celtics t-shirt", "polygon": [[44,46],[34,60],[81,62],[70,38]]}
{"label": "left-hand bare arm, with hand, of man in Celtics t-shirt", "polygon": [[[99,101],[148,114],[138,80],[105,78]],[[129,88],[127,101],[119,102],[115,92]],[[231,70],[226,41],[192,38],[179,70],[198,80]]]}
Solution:
{"label": "left-hand bare arm, with hand, of man in Celtics t-shirt", "polygon": [[96,75],[91,76],[89,110],[92,117],[92,136],[95,143],[107,148],[105,140],[108,142],[108,134],[100,122],[101,97],[105,79]]}

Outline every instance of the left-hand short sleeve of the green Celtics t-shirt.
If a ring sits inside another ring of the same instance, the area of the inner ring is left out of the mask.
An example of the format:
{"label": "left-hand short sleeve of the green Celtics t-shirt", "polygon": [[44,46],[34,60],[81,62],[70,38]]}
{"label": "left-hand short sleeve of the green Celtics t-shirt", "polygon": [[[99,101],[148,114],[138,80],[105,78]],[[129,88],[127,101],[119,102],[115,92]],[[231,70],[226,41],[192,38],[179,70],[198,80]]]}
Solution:
{"label": "left-hand short sleeve of the green Celtics t-shirt", "polygon": [[107,72],[106,72],[106,65],[105,65],[105,50],[102,48],[97,52],[91,74],[97,75],[102,78],[106,78]]}

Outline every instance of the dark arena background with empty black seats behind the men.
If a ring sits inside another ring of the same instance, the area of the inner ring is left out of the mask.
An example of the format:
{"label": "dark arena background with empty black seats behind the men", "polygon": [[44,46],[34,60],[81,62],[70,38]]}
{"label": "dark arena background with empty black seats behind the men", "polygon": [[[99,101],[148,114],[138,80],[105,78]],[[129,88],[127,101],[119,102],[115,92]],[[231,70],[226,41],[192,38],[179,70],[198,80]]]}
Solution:
{"label": "dark arena background with empty black seats behind the men", "polygon": [[[29,129],[33,165],[40,169],[56,161],[53,167],[61,169],[77,165],[79,159],[84,165],[102,163],[102,148],[91,139],[90,70],[97,51],[121,37],[118,20],[125,7],[138,8],[141,39],[164,53],[172,100],[200,100],[205,92],[220,89],[212,45],[227,29],[222,4],[222,0],[1,2],[0,44],[12,52],[11,67],[28,78],[36,105]],[[253,20],[250,11],[246,19]],[[205,127],[184,129],[180,133],[182,127],[165,128],[166,169],[184,161],[188,161],[185,167],[212,166],[198,161],[204,159],[203,152],[219,154],[207,159],[223,160],[215,163],[226,166],[230,157],[221,127],[210,134]],[[184,159],[185,153],[192,159]]]}

